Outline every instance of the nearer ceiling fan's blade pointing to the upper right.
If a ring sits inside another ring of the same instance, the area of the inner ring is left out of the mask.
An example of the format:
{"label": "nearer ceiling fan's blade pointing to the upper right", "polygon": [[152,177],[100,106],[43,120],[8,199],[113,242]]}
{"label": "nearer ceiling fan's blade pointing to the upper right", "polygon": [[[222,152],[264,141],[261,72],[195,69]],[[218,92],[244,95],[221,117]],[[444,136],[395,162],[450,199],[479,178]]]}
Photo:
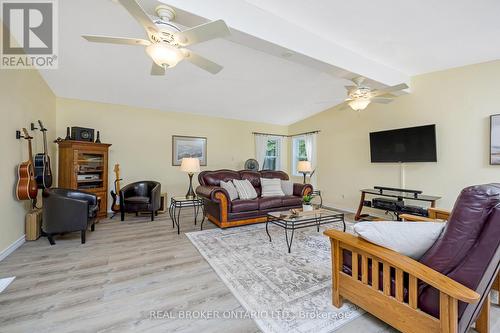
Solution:
{"label": "nearer ceiling fan's blade pointing to the upper right", "polygon": [[207,40],[226,37],[231,32],[223,20],[208,22],[194,28],[184,30],[176,34],[177,42],[182,46],[188,46],[205,42]]}

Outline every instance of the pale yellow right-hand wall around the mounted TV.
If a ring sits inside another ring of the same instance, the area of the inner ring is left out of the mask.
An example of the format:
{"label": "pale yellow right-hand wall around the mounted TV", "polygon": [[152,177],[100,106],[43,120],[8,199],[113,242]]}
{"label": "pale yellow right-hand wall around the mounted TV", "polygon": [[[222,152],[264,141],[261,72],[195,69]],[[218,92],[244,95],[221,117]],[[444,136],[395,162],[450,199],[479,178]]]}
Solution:
{"label": "pale yellow right-hand wall around the mounted TV", "polygon": [[289,133],[321,130],[318,182],[325,202],[355,210],[359,190],[400,186],[398,164],[370,163],[369,133],[437,125],[438,162],[406,167],[406,187],[443,198],[452,208],[469,185],[500,181],[489,165],[489,116],[500,113],[500,61],[414,77],[411,94],[357,113],[330,109],[289,127]]}

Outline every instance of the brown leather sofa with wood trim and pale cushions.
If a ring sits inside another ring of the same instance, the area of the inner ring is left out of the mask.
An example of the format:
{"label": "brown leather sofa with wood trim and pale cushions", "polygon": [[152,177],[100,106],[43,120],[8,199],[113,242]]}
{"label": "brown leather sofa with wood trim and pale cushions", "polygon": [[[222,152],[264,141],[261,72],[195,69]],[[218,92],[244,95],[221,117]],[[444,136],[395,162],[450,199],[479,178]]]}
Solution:
{"label": "brown leather sofa with wood trim and pale cushions", "polygon": [[[203,171],[198,175],[200,186],[196,194],[203,199],[207,218],[221,228],[266,221],[266,214],[273,211],[302,207],[302,197],[312,192],[309,184],[294,184],[292,196],[265,197],[261,195],[260,178],[289,180],[283,171]],[[253,200],[235,199],[231,201],[220,182],[233,179],[248,179],[258,197]]]}

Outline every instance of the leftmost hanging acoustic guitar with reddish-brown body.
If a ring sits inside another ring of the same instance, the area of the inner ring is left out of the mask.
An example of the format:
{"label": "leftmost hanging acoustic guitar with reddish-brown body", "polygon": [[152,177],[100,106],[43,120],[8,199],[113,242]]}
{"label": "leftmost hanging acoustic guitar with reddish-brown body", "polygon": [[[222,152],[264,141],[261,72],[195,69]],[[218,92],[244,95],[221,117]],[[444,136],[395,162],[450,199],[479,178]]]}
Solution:
{"label": "leftmost hanging acoustic guitar with reddish-brown body", "polygon": [[17,186],[16,196],[18,200],[36,199],[38,186],[35,180],[35,171],[33,169],[33,150],[31,140],[33,139],[26,128],[23,128],[24,139],[28,141],[29,158],[17,168]]}

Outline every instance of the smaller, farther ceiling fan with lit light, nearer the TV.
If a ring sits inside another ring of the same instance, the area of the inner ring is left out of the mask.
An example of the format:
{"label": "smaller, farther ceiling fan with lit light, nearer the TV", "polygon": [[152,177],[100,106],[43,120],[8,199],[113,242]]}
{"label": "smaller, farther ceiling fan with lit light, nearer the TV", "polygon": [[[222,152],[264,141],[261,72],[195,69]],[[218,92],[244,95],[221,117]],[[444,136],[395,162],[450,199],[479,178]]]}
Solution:
{"label": "smaller, farther ceiling fan with lit light, nearer the TV", "polygon": [[345,87],[347,89],[348,97],[342,104],[340,104],[341,109],[349,106],[354,111],[361,111],[366,109],[370,103],[388,104],[397,97],[392,94],[393,92],[408,89],[408,85],[406,83],[401,83],[392,87],[377,90],[363,85],[364,81],[364,77],[357,77],[352,79],[354,86]]}

